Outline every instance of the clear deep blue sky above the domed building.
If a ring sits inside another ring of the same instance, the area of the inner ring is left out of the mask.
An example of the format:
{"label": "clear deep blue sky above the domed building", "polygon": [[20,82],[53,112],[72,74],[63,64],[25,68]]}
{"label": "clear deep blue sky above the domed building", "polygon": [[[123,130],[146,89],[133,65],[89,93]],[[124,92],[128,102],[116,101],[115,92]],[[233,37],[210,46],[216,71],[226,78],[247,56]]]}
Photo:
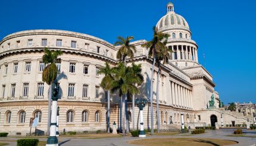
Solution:
{"label": "clear deep blue sky above the domed building", "polygon": [[[114,43],[117,36],[149,40],[168,0],[1,1],[0,38],[21,30],[60,29]],[[199,62],[224,103],[256,103],[255,0],[172,0],[199,46]]]}

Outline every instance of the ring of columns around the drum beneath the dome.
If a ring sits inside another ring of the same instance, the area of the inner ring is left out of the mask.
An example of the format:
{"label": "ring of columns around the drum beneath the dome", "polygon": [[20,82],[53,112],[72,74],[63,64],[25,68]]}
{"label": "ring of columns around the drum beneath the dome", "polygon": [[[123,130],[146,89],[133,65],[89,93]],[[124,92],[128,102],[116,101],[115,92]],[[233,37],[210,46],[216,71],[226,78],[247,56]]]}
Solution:
{"label": "ring of columns around the drum beneath the dome", "polygon": [[172,59],[191,60],[198,62],[198,54],[196,47],[186,45],[173,45],[168,47],[173,51],[173,53],[171,53]]}

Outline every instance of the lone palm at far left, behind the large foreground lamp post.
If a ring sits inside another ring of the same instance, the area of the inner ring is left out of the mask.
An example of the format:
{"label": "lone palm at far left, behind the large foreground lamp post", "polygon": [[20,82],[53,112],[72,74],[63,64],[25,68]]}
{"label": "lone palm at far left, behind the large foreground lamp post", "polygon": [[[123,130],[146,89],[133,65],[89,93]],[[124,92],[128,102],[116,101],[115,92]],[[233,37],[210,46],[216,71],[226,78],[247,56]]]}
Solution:
{"label": "lone palm at far left, behind the large foreground lamp post", "polygon": [[51,123],[51,96],[52,96],[52,82],[55,80],[58,74],[58,69],[55,63],[60,62],[58,56],[62,55],[63,52],[61,50],[51,51],[47,48],[44,50],[44,55],[42,57],[43,63],[48,64],[43,69],[42,80],[49,85],[49,93],[48,93],[48,125],[47,125],[47,134],[49,135],[49,128]]}

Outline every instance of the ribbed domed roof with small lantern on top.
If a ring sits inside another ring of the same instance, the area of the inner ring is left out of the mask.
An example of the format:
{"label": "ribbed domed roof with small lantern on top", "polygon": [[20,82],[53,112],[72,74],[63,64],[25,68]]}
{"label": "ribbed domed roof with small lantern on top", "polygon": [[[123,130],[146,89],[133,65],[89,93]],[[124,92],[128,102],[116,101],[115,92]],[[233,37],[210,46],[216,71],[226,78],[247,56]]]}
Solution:
{"label": "ribbed domed roof with small lantern on top", "polygon": [[169,30],[169,29],[175,29],[175,28],[182,28],[185,30],[189,30],[189,24],[183,18],[181,15],[176,14],[174,12],[174,8],[168,8],[167,4],[167,14],[164,15],[157,23],[157,29],[158,30]]}

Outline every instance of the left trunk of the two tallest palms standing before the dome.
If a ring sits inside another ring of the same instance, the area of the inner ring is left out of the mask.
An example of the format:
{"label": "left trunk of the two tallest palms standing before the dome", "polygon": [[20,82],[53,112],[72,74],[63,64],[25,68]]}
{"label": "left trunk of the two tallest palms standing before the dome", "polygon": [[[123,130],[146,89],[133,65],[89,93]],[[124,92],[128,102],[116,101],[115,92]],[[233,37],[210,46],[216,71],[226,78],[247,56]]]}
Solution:
{"label": "left trunk of the two tallest palms standing before the dome", "polygon": [[154,78],[154,68],[155,68],[155,56],[153,60],[152,73],[151,73],[151,83],[150,83],[150,115],[151,115],[151,135],[154,133],[154,115],[153,115],[153,78]]}

